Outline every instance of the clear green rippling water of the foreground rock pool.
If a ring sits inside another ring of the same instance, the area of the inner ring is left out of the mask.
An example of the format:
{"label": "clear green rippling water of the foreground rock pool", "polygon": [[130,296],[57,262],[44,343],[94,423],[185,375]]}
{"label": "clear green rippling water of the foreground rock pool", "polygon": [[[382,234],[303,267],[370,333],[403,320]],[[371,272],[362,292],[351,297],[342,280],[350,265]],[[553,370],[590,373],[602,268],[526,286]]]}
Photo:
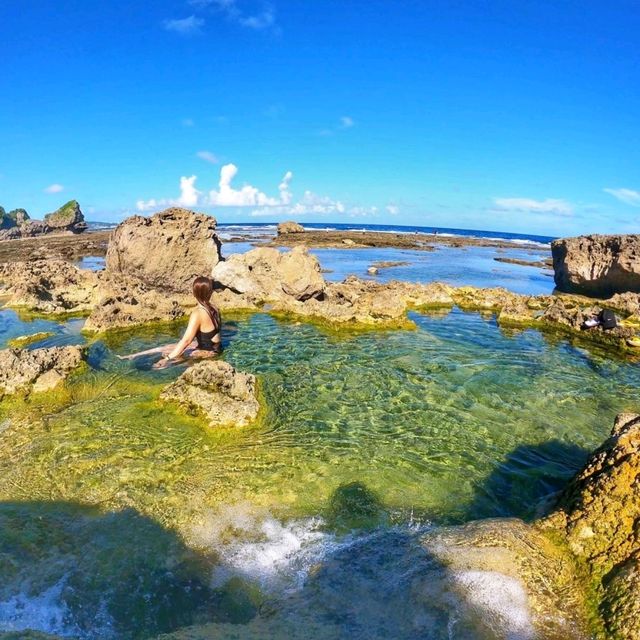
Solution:
{"label": "clear green rippling water of the foreground rock pool", "polygon": [[0,405],[0,630],[134,638],[214,621],[211,637],[229,637],[227,623],[248,633],[273,616],[253,637],[291,637],[283,619],[313,637],[508,637],[517,621],[530,637],[504,576],[465,578],[475,597],[502,594],[502,635],[445,588],[437,606],[418,597],[419,536],[533,517],[614,415],[640,410],[640,371],[491,316],[412,319],[338,335],[226,318],[224,358],[259,376],[267,406],[245,429],[159,404],[179,367],[114,356],[179,327],[93,343],[66,395]]}

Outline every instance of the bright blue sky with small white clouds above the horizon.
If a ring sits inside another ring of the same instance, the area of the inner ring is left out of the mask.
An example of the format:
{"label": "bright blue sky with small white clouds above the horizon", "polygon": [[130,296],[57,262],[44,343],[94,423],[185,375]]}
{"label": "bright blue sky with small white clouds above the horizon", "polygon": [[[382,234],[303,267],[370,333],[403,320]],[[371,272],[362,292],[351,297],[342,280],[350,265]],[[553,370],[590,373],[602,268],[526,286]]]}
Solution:
{"label": "bright blue sky with small white clouds above the horizon", "polygon": [[637,231],[633,1],[0,0],[0,204]]}

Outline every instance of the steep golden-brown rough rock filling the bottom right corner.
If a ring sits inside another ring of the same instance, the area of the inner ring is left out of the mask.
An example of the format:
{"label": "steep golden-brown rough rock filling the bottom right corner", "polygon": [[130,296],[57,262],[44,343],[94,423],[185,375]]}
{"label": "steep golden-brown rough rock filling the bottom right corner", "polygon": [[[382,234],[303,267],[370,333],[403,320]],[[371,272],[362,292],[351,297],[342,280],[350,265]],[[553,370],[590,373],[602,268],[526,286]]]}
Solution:
{"label": "steep golden-brown rough rock filling the bottom right corner", "polygon": [[589,567],[602,614],[618,637],[638,638],[640,602],[640,416],[620,414],[611,437],[569,483],[541,523]]}

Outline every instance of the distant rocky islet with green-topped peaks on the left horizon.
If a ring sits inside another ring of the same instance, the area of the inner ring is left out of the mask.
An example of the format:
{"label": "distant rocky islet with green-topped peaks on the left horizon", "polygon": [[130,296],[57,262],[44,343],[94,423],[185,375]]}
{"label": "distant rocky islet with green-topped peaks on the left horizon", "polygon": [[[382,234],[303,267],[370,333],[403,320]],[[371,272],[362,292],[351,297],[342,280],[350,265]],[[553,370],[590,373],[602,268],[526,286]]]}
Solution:
{"label": "distant rocky islet with green-topped peaks on the left horizon", "polygon": [[47,233],[82,233],[87,229],[77,200],[69,200],[43,220],[33,220],[25,209],[5,211],[0,206],[0,240],[33,238]]}

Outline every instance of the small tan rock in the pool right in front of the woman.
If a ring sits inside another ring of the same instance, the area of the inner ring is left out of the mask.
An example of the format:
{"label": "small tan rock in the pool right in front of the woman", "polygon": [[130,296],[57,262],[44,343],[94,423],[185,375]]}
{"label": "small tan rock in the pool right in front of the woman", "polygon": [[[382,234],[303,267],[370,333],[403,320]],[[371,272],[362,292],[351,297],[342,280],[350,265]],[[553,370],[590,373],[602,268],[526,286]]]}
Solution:
{"label": "small tan rock in the pool right in front of the woman", "polygon": [[245,426],[260,410],[255,376],[222,360],[189,367],[160,398],[203,414],[211,427]]}

